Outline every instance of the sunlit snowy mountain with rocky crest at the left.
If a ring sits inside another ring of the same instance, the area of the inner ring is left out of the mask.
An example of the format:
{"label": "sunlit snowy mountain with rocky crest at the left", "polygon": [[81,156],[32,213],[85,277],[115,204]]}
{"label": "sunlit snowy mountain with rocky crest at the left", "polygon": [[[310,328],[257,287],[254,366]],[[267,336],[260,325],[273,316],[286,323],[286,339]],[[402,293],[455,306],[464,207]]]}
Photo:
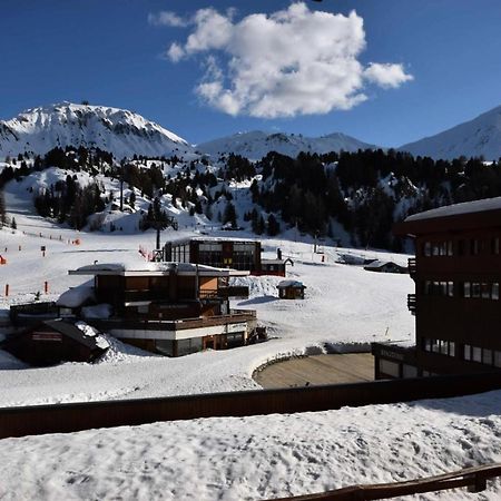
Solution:
{"label": "sunlit snowy mountain with rocky crest at the left", "polygon": [[43,155],[56,146],[98,147],[116,158],[179,156],[193,150],[184,139],[140,115],[108,106],[61,102],[0,121],[0,157],[24,151]]}

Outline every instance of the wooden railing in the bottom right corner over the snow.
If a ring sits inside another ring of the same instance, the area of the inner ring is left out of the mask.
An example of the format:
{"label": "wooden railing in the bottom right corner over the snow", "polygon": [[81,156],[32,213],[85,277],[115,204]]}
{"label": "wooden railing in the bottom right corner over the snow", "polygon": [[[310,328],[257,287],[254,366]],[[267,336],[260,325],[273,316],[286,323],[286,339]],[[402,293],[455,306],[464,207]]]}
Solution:
{"label": "wooden railing in the bottom right corner over the snow", "polygon": [[495,477],[501,477],[501,463],[465,468],[464,470],[426,477],[424,479],[394,483],[352,485],[318,494],[279,498],[274,499],[274,501],[365,501],[459,488],[469,488],[470,492],[481,492],[487,489],[487,481]]}

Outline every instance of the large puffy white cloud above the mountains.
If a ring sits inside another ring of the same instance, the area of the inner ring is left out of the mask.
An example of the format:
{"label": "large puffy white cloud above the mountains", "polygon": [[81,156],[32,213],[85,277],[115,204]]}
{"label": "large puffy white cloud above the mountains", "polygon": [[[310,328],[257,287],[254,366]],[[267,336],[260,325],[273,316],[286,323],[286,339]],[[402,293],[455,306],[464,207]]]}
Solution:
{"label": "large puffy white cloud above the mountains", "polygon": [[[229,115],[275,118],[326,114],[364,101],[365,84],[399,87],[412,79],[401,65],[358,61],[365,49],[363,19],[311,11],[304,2],[234,22],[234,12],[200,9],[173,62],[207,53],[197,95]],[[216,60],[215,53],[223,56]]]}

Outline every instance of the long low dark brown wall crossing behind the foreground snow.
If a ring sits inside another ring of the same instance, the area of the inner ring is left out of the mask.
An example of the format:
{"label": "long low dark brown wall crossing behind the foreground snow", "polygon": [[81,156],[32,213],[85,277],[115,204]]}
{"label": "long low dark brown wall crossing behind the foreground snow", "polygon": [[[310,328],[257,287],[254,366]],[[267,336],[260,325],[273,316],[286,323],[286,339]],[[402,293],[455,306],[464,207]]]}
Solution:
{"label": "long low dark brown wall crossing behind the foreground snow", "polygon": [[157,421],[326,411],[501,389],[501,372],[325,386],[0,409],[0,439]]}

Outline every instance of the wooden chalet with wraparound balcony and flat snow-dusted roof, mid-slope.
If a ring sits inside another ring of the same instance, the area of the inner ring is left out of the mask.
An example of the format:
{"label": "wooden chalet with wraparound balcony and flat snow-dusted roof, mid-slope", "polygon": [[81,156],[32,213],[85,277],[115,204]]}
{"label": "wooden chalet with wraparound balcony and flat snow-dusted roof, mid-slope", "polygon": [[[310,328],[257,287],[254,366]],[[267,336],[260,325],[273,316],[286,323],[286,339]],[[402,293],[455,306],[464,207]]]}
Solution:
{"label": "wooden chalet with wraparound balcony and flat snow-dusted roof, mid-slope", "polygon": [[111,306],[106,320],[89,320],[111,335],[145,350],[179,356],[243,345],[256,326],[254,311],[229,308],[232,276],[248,272],[186,263],[90,265],[69,272],[94,275],[96,302]]}

